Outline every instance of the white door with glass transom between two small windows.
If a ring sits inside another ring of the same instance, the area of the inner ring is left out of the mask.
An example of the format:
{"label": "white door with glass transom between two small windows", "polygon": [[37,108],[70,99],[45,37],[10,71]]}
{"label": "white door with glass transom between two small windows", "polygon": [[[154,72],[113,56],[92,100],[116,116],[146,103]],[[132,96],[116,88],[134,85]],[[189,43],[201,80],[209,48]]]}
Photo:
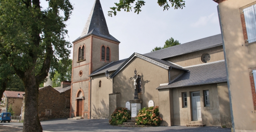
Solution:
{"label": "white door with glass transom between two small windows", "polygon": [[201,117],[201,102],[200,102],[200,92],[192,92],[192,114],[193,120],[202,120]]}

